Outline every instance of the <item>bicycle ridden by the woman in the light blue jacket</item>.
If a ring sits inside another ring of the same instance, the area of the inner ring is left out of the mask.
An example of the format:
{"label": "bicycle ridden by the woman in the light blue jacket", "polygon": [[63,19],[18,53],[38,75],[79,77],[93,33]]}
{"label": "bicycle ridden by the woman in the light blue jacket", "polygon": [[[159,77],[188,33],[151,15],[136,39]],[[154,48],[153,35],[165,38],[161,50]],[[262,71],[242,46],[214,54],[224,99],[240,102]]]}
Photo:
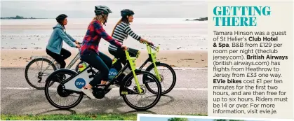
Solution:
{"label": "bicycle ridden by the woman in the light blue jacket", "polygon": [[[79,43],[79,45],[81,45],[81,43]],[[32,59],[33,58],[33,59]],[[25,80],[27,80],[27,83],[34,87],[37,90],[43,90],[44,86],[40,86],[38,87],[37,85],[33,85],[32,82],[29,80],[28,75],[28,71],[32,70],[30,69],[30,67],[32,66],[32,64],[34,64],[36,62],[36,65],[39,67],[39,62],[41,62],[41,69],[37,69],[39,70],[39,72],[36,73],[36,78],[38,79],[36,82],[37,83],[41,83],[42,77],[43,76],[49,76],[50,73],[45,73],[45,71],[47,71],[47,69],[51,66],[53,68],[53,71],[56,71],[59,69],[59,67],[56,67],[55,63],[55,59],[50,59],[51,57],[44,57],[44,56],[32,56],[31,57],[31,61],[27,63],[27,65],[25,66]],[[66,69],[71,69],[72,66],[74,66],[74,64],[79,60],[79,52],[76,54],[76,56],[74,57],[74,59],[72,59],[72,61],[67,65]],[[45,64],[46,68],[44,70],[42,70],[43,68],[43,62],[46,62],[47,64]],[[78,64],[79,65],[79,64]],[[76,65],[76,66],[78,66]],[[50,70],[50,69],[49,69]],[[52,69],[51,69],[52,70]]]}

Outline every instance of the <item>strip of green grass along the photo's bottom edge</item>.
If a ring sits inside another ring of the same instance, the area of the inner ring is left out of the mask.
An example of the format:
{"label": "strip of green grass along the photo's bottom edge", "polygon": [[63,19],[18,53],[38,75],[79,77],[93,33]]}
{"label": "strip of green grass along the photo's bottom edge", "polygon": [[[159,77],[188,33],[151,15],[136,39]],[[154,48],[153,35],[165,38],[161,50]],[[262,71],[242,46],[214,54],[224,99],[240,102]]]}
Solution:
{"label": "strip of green grass along the photo's bottom edge", "polygon": [[[198,115],[207,116],[207,115]],[[137,114],[6,115],[1,120],[137,120]]]}

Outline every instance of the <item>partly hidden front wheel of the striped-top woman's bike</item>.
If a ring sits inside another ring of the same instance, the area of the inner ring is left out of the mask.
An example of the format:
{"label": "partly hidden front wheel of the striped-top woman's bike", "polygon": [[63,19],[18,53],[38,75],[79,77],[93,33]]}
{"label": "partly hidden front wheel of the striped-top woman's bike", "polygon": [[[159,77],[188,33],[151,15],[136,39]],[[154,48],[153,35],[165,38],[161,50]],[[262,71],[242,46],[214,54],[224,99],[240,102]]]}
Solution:
{"label": "partly hidden front wheel of the striped-top woman's bike", "polygon": [[[171,92],[171,90],[173,90],[173,87],[175,87],[175,83],[177,81],[177,77],[175,75],[175,70],[173,70],[173,68],[171,66],[169,66],[168,64],[164,64],[164,63],[157,63],[156,64],[157,70],[159,72],[159,76],[161,78],[161,87],[162,92],[161,94],[168,94],[168,92]],[[163,67],[161,69],[161,67]],[[165,68],[165,69],[164,69]],[[147,67],[146,71],[154,74],[154,76],[156,76],[155,71],[154,71],[154,64],[151,64]],[[147,89],[151,90],[149,88],[149,85],[146,85]]]}

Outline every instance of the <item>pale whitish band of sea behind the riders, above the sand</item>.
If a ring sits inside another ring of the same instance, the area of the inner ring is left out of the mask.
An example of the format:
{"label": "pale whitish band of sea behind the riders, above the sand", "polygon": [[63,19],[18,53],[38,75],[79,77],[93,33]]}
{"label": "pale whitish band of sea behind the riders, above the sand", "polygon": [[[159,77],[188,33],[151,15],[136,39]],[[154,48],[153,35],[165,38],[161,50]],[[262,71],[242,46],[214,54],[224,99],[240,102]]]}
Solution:
{"label": "pale whitish band of sea behind the riders, above the sand", "polygon": [[[133,31],[159,45],[161,50],[207,50],[207,21],[186,21],[192,18],[134,18]],[[119,18],[109,18],[105,30],[108,34]],[[83,40],[91,18],[68,18],[67,33],[78,41]],[[44,49],[56,24],[55,19],[1,20],[1,49]],[[146,50],[131,36],[124,44]],[[107,50],[109,43],[100,41],[100,49]],[[63,43],[64,48],[70,48]],[[72,48],[71,48],[72,49]]]}

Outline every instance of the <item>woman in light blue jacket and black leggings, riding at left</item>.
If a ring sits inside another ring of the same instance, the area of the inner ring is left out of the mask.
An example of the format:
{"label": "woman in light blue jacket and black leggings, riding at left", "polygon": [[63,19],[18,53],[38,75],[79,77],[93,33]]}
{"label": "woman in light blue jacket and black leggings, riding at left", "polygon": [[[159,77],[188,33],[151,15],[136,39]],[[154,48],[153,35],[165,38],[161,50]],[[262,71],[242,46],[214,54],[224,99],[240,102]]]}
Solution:
{"label": "woman in light blue jacket and black leggings, riding at left", "polygon": [[[81,46],[78,41],[72,38],[72,36],[69,36],[69,34],[65,31],[65,25],[67,25],[67,15],[58,15],[58,17],[56,17],[56,21],[58,24],[53,27],[53,32],[46,46],[46,52],[53,59],[55,59],[58,64],[60,64],[60,69],[64,69],[66,65],[65,59],[70,57],[72,53],[65,50],[65,48],[62,48],[62,42],[65,41],[65,43],[73,48],[80,48]],[[76,45],[72,42],[75,42]]]}

